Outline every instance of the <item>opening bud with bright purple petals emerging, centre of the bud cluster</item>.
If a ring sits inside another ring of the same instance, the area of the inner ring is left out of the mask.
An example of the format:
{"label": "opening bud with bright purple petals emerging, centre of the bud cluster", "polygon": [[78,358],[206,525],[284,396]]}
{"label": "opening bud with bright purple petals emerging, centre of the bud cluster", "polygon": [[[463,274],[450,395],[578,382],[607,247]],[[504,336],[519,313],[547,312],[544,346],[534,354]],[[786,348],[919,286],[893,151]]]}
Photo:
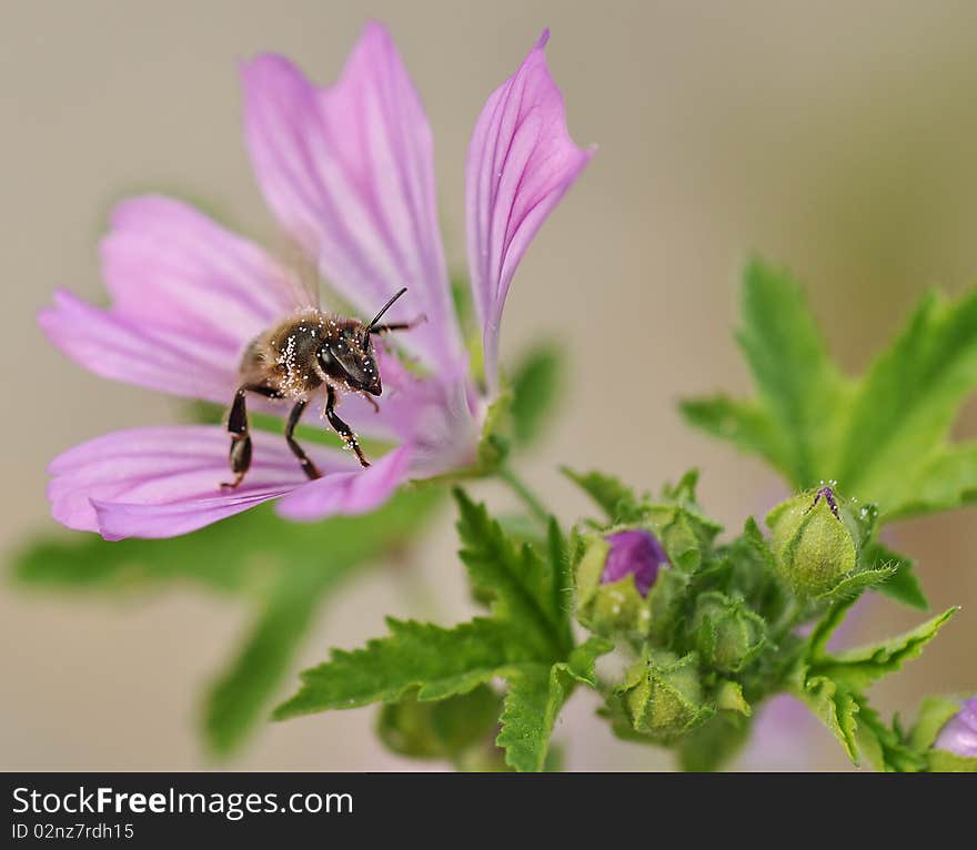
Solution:
{"label": "opening bud with bright purple petals emerging, centre of the bud cluster", "polygon": [[668,566],[662,544],[641,528],[591,534],[584,543],[576,568],[577,618],[597,634],[645,634],[651,619],[645,597]]}

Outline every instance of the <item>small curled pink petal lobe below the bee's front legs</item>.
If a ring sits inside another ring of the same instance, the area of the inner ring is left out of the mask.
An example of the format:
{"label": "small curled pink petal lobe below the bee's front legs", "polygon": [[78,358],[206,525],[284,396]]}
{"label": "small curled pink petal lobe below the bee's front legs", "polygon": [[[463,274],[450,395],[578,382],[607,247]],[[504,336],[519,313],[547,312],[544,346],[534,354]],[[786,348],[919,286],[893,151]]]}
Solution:
{"label": "small curled pink petal lobe below the bee's front legs", "polygon": [[365,514],[380,507],[406,479],[412,451],[389,452],[366,469],[335,473],[310,482],[279,503],[288,519],[311,522],[335,514]]}

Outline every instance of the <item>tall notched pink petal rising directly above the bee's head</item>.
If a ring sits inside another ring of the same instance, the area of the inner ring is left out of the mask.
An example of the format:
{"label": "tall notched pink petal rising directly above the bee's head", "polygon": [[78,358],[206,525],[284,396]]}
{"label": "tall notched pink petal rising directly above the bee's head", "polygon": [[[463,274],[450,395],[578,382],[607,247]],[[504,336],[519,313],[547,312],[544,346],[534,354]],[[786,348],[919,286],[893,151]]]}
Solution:
{"label": "tall notched pink petal rising directly above the bee's head", "polygon": [[364,318],[389,321],[432,370],[463,361],[437,224],[431,130],[390,34],[366,27],[339,82],[313,87],[282,57],[243,69],[258,181],[282,225]]}

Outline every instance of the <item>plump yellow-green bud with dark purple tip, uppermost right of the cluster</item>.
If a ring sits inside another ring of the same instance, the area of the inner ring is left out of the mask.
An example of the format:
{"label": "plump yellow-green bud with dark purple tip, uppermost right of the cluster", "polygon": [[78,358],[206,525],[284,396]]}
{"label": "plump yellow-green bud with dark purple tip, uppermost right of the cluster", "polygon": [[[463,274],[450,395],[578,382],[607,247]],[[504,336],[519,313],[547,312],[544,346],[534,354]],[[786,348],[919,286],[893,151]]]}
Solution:
{"label": "plump yellow-green bud with dark purple tip, uppermost right of the cluster", "polygon": [[798,596],[829,593],[855,569],[860,533],[830,487],[777,505],[767,525],[777,570]]}

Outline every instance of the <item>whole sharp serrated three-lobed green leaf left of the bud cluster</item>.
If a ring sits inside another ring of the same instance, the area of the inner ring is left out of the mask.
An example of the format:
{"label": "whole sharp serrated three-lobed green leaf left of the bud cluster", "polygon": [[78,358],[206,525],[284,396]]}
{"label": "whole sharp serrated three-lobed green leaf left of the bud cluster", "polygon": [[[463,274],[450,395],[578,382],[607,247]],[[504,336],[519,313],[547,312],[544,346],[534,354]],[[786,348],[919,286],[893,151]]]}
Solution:
{"label": "whole sharp serrated three-lobed green leaf left of the bud cluster", "polygon": [[596,686],[594,661],[612,645],[574,646],[566,594],[570,564],[551,520],[545,550],[516,543],[483,505],[455,493],[461,558],[490,617],[454,628],[389,620],[390,635],[302,674],[302,688],[278,719],[367,702],[459,698],[494,678],[507,688],[496,739],[515,770],[546,766],[550,735],[576,684]]}

